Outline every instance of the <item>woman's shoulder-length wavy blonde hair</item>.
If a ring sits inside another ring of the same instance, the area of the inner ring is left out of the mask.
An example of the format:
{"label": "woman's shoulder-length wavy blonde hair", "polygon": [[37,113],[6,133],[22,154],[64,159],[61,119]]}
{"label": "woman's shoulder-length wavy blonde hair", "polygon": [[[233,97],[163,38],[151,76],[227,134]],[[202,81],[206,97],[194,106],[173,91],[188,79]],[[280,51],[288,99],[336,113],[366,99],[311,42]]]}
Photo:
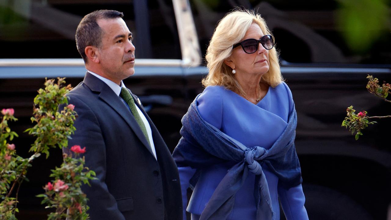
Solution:
{"label": "woman's shoulder-length wavy blonde hair", "polygon": [[[244,94],[233,77],[231,67],[226,65],[224,60],[231,56],[233,45],[244,38],[252,23],[258,24],[264,34],[271,34],[265,20],[254,11],[235,9],[220,20],[206,50],[205,58],[209,74],[202,80],[204,87],[220,85]],[[278,53],[273,47],[269,50],[269,70],[262,76],[260,83],[276,87],[282,81]]]}

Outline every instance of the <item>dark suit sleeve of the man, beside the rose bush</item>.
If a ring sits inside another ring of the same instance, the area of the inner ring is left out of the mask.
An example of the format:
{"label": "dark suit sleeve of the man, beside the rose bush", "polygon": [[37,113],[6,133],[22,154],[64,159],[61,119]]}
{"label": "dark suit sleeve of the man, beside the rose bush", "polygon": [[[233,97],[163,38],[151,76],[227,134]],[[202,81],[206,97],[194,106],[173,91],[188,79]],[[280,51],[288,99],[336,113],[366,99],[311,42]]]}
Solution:
{"label": "dark suit sleeve of the man, beside the rose bush", "polygon": [[[106,145],[102,136],[99,122],[91,108],[78,97],[70,96],[69,104],[75,105],[75,111],[79,115],[75,120],[76,128],[72,139],[68,140],[68,148],[63,148],[64,153],[74,145],[86,147],[86,164],[90,170],[95,171],[97,180],[90,181],[91,187],[84,184],[81,189],[86,193],[88,213],[91,219],[125,220],[118,210],[117,202],[108,191],[106,179]],[[60,110],[63,107],[60,106]]]}

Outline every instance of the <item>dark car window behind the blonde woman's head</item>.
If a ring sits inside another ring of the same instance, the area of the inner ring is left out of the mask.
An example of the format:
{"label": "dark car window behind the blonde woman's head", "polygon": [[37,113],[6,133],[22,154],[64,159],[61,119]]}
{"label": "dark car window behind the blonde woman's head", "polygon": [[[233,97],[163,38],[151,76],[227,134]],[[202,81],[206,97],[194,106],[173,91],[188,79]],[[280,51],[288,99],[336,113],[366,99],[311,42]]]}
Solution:
{"label": "dark car window behind the blonde woman's head", "polygon": [[240,6],[254,9],[265,18],[275,37],[281,60],[361,64],[386,64],[391,60],[391,38],[387,27],[376,27],[382,28],[379,30],[382,34],[370,38],[370,47],[365,51],[349,47],[343,35],[348,30],[338,23],[341,6],[335,0],[190,0],[190,4],[203,56],[218,21]]}

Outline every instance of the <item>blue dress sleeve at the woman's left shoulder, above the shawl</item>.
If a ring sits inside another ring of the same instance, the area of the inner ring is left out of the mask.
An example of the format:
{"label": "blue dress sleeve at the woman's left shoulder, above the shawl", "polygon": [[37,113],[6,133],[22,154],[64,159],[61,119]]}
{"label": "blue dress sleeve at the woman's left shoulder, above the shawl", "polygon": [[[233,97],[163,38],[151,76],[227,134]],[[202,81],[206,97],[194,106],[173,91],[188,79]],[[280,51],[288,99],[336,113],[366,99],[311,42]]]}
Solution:
{"label": "blue dress sleeve at the woman's left shoulder, above the shawl", "polygon": [[222,97],[221,87],[206,87],[201,96],[198,97],[198,111],[201,117],[217,129],[221,129],[222,121]]}

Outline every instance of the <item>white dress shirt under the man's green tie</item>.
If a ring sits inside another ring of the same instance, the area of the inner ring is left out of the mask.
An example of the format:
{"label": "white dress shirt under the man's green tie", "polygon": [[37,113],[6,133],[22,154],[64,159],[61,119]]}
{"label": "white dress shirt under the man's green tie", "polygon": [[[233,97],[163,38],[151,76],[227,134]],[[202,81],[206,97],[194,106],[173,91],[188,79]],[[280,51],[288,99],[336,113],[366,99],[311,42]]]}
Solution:
{"label": "white dress shirt under the man's green tie", "polygon": [[[121,88],[125,87],[124,83],[122,82],[121,80],[121,86],[117,85],[117,83],[111,81],[110,79],[106,79],[102,76],[99,76],[98,74],[94,73],[94,72],[91,72],[90,70],[87,70],[90,74],[96,76],[98,79],[102,80],[104,83],[106,83],[114,92],[115,94],[119,97],[120,96],[120,93],[121,93]],[[125,104],[125,101],[124,99],[122,99],[120,97],[120,99],[124,102]],[[137,101],[140,103],[140,99],[137,99]],[[141,105],[141,103],[140,103]],[[148,121],[147,121],[147,118],[145,117],[145,115],[141,112],[140,108],[138,108],[138,106],[136,105],[136,109],[137,109],[137,112],[138,114],[140,115],[141,117],[141,120],[143,121],[143,123],[145,124],[145,128],[147,129],[147,134],[148,134],[148,137],[149,137],[149,143],[151,144],[151,149],[152,149],[152,153],[155,157],[155,159],[157,160],[157,157],[156,157],[156,150],[155,150],[155,145],[153,144],[153,140],[152,140],[152,130],[151,130],[151,126],[149,125]]]}

